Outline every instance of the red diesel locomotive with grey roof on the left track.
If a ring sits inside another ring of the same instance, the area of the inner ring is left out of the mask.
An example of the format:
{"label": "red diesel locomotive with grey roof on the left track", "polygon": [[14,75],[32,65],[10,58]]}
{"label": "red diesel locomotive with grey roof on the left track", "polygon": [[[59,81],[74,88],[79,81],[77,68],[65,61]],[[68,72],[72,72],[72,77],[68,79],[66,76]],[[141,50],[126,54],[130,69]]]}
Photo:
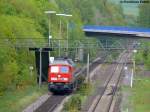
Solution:
{"label": "red diesel locomotive with grey roof on the left track", "polygon": [[75,64],[71,59],[54,60],[48,70],[49,91],[72,91],[76,86],[75,69]]}

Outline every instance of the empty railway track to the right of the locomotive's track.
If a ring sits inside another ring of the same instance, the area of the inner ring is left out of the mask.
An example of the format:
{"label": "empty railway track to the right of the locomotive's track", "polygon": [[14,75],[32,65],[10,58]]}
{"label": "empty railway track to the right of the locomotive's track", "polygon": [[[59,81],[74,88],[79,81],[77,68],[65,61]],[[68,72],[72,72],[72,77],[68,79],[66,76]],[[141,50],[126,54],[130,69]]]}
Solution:
{"label": "empty railway track to the right of the locomotive's track", "polygon": [[126,61],[128,55],[129,53],[127,52],[122,53],[117,60],[117,62],[121,62],[122,64],[113,64],[113,67],[109,71],[111,75],[105,82],[104,89],[101,94],[96,97],[96,101],[91,108],[89,108],[88,112],[110,112],[112,106],[111,104],[121,77],[120,74],[124,65],[123,62]]}

